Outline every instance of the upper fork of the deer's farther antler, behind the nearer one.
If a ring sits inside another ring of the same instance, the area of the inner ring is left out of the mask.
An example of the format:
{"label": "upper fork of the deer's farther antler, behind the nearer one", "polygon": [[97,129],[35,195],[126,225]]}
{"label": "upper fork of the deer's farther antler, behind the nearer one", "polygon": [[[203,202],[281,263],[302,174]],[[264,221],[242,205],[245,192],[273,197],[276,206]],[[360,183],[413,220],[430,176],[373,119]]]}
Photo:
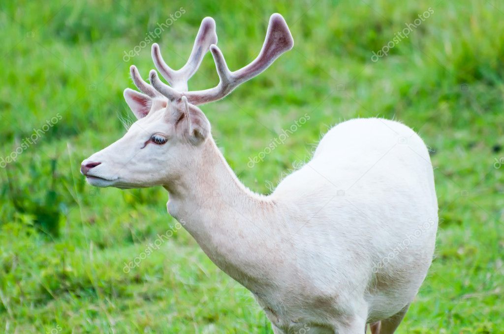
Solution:
{"label": "upper fork of the deer's farther antler, behind the nearer one", "polygon": [[210,17],[206,17],[201,21],[200,30],[194,41],[191,55],[182,68],[178,70],[170,68],[163,60],[157,43],[152,44],[152,59],[158,71],[173,89],[179,92],[186,92],[187,81],[198,70],[198,67],[200,67],[201,61],[208,52],[210,45],[216,43],[217,34],[215,32],[215,21]]}

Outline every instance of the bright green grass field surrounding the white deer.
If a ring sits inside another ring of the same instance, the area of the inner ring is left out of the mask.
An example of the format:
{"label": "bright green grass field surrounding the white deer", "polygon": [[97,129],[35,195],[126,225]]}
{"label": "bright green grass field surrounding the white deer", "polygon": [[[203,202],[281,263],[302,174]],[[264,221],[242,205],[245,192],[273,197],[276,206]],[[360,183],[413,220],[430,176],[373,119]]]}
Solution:
{"label": "bright green grass field surrounding the white deer", "polygon": [[[92,188],[79,164],[125,132],[129,66],[147,77],[152,42],[177,68],[201,19],[212,16],[234,69],[257,55],[274,12],[289,24],[294,49],[202,108],[239,179],[269,193],[334,124],[404,122],[431,150],[440,225],[432,267],[398,333],[504,332],[497,0],[1,2],[1,330],[272,333],[250,293],[167,214],[164,189]],[[145,41],[160,23],[164,31]],[[217,80],[207,55],[190,88]],[[308,122],[247,166],[305,113]],[[123,271],[166,233],[159,250]]]}

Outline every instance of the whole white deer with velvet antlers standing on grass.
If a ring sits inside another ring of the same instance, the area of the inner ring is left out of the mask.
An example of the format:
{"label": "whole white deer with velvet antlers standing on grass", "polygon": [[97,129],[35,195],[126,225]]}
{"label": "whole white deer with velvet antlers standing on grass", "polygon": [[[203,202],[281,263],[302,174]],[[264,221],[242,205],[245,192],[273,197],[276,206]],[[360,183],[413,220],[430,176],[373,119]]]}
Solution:
{"label": "whole white deer with velvet antlers standing on grass", "polygon": [[[124,98],[137,116],[119,140],[82,162],[97,187],[161,185],[168,212],[208,257],[250,290],[275,333],[393,333],[430,266],[437,230],[432,165],[422,139],[385,119],[333,127],[313,157],[269,196],[243,186],[217,148],[197,105],[222,99],[293,46],[279,14],[259,56],[231,72],[205,18],[179,70],[159,46],[150,84],[131,66]],[[220,82],[188,91],[210,50]]]}

